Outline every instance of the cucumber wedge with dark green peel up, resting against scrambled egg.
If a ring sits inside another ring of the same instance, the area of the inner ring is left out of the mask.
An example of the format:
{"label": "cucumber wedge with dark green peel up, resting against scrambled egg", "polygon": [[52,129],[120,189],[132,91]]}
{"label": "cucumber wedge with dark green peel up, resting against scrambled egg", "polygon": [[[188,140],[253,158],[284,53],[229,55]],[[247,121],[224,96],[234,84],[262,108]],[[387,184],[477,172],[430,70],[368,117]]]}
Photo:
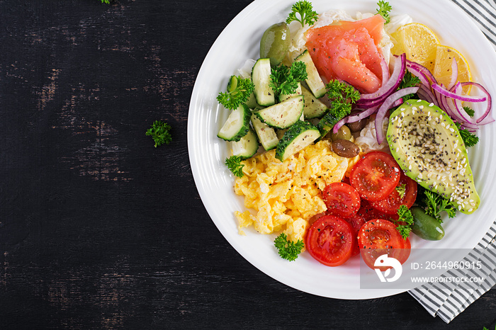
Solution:
{"label": "cucumber wedge with dark green peel up, resting against scrambled egg", "polygon": [[298,123],[288,128],[283,138],[277,144],[276,158],[284,161],[293,154],[308,147],[320,137],[320,131],[314,125],[298,120]]}

